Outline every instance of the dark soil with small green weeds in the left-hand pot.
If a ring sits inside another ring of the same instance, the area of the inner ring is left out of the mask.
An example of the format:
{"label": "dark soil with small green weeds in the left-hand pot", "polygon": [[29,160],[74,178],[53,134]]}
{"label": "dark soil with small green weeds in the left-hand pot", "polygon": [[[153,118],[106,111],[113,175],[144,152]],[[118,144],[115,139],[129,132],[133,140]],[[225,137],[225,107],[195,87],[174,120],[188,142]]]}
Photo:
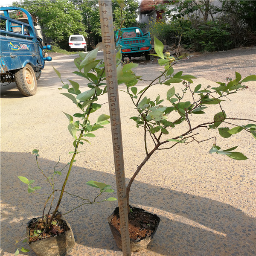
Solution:
{"label": "dark soil with small green weeds in the left-hand pot", "polygon": [[48,230],[45,230],[45,223],[42,221],[42,218],[34,218],[33,221],[28,224],[29,244],[47,237],[59,236],[68,231],[69,227],[67,227],[66,222],[63,221],[59,216],[60,215],[57,215],[56,218],[53,218],[52,224]]}

